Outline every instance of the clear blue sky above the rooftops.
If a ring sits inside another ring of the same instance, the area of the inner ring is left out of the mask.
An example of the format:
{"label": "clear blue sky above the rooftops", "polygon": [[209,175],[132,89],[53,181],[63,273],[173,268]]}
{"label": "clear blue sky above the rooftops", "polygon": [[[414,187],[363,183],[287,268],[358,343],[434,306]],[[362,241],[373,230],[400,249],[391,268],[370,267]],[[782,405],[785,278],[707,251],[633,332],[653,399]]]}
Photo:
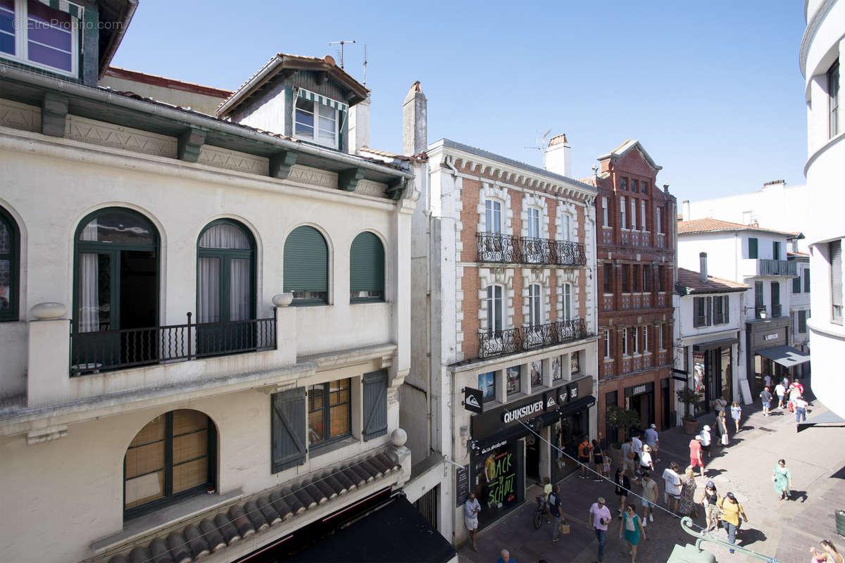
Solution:
{"label": "clear blue sky above the rooftops", "polygon": [[[361,8],[365,6],[366,8]],[[428,141],[533,165],[566,133],[573,176],[627,138],[679,200],[804,183],[799,0],[716,3],[296,3],[140,0],[113,64],[226,89],[275,52],[337,57],[372,90],[374,148],[401,150],[401,102],[428,97]]]}

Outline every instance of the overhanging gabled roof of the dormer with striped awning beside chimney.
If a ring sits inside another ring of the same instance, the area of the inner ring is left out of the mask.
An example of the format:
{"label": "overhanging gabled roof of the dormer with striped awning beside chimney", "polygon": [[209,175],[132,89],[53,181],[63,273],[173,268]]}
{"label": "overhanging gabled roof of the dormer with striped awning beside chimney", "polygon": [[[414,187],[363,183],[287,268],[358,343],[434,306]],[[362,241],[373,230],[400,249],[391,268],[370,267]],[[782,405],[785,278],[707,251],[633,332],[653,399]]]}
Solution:
{"label": "overhanging gabled roof of the dormer with striped awning beside chimney", "polygon": [[241,84],[235,92],[217,107],[217,115],[225,117],[232,113],[237,106],[248,101],[270,84],[277,76],[291,76],[299,70],[307,70],[315,73],[323,73],[324,78],[332,80],[344,92],[349,106],[367,99],[369,90],[352,78],[342,68],[337,66],[335,59],[326,55],[323,58],[303,57],[300,55],[289,55],[276,53],[258,72],[254,73]]}

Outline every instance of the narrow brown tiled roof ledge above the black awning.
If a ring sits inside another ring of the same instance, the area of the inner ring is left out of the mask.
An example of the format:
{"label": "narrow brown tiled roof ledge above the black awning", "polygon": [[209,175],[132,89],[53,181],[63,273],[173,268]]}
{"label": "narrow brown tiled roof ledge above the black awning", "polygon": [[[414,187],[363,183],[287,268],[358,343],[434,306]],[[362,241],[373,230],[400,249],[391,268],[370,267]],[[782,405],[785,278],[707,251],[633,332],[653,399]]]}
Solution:
{"label": "narrow brown tiled roof ledge above the black awning", "polygon": [[108,563],[188,563],[199,560],[308,512],[315,506],[333,501],[358,487],[383,479],[400,468],[387,454],[380,452],[355,463],[326,469],[322,475],[306,479],[301,484],[265,490],[249,501],[230,506],[227,512],[219,512],[213,517],[190,523],[165,538],[156,538],[149,544],[135,546],[126,554],[114,555]]}

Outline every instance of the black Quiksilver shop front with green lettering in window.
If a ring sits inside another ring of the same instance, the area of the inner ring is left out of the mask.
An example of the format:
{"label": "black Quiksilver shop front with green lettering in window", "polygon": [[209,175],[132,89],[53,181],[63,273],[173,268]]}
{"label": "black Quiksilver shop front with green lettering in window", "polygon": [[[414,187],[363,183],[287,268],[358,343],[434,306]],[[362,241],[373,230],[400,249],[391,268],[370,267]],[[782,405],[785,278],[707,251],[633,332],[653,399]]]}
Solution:
{"label": "black Quiksilver shop front with green lettering in window", "polygon": [[[539,481],[541,475],[555,481],[562,478],[559,453],[548,441],[560,447],[560,427],[571,429],[573,420],[577,437],[586,435],[589,409],[596,403],[591,392],[592,379],[585,377],[472,416],[469,490],[475,491],[482,506],[479,528],[521,506],[526,485]],[[570,430],[570,440],[574,439],[571,434]]]}

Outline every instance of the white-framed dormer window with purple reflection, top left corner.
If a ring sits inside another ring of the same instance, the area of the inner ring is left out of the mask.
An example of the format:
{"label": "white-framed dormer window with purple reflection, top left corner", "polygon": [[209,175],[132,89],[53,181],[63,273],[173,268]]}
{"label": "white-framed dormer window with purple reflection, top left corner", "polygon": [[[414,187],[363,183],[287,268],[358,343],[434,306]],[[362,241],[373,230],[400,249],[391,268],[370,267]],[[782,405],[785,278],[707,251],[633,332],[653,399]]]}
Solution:
{"label": "white-framed dormer window with purple reflection, top left corner", "polygon": [[82,8],[36,0],[0,0],[0,57],[67,76],[78,75]]}

